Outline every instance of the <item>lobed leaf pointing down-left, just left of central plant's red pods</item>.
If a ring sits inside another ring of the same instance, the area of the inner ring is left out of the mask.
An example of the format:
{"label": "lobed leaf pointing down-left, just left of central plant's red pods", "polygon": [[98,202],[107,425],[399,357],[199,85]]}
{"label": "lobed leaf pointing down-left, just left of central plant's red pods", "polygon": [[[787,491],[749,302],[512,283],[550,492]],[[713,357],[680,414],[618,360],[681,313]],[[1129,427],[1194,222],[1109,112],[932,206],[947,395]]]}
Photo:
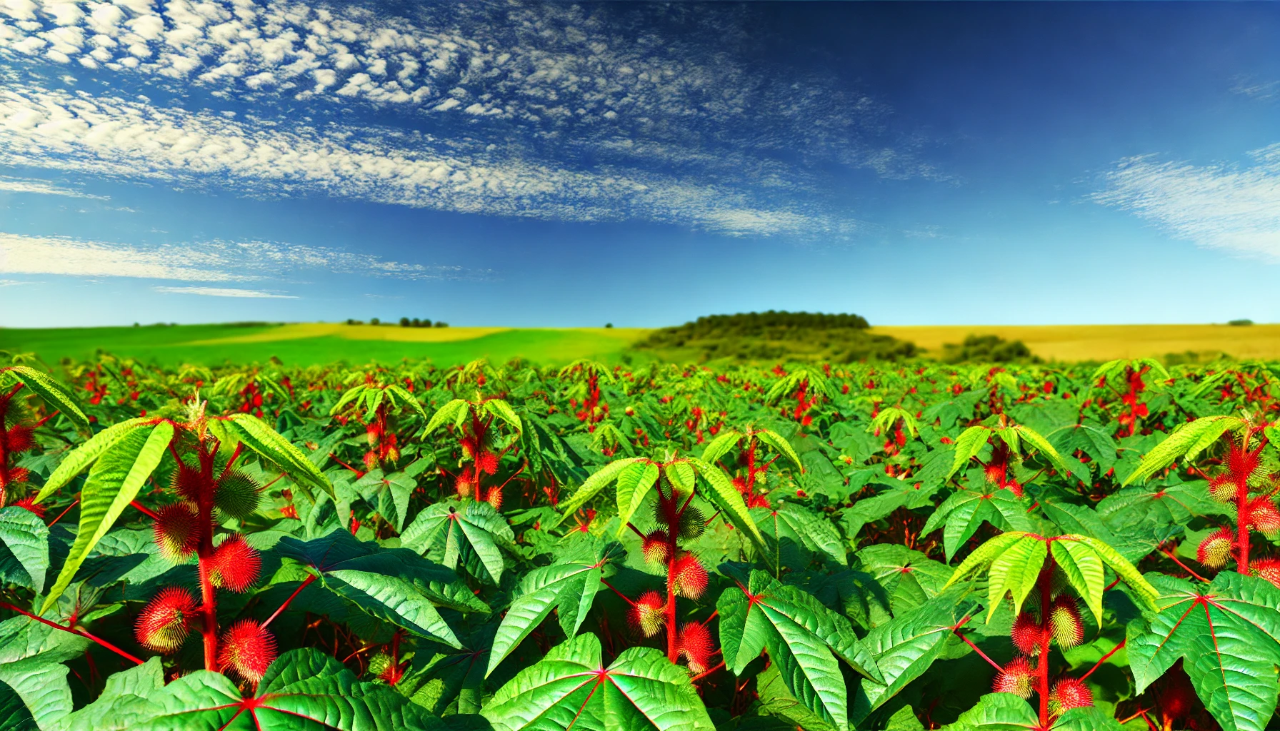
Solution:
{"label": "lobed leaf pointing down-left, just left of central plant's red pods", "polygon": [[622,545],[611,542],[599,545],[590,561],[559,561],[526,574],[520,580],[520,594],[512,600],[494,635],[485,677],[552,609],[559,616],[564,635],[575,636],[595,600],[600,581],[613,572],[612,562],[625,559],[626,550]]}

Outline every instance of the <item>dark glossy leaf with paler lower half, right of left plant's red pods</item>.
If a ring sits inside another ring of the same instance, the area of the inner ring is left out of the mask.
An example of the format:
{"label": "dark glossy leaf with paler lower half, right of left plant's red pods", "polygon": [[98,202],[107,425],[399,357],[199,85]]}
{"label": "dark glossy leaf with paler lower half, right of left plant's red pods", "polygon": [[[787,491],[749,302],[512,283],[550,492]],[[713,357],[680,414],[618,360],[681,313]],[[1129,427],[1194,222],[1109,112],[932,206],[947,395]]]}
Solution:
{"label": "dark glossy leaf with paler lower half, right of left plant's red pods", "polygon": [[326,589],[370,616],[452,647],[460,647],[458,638],[435,606],[488,611],[453,571],[404,548],[356,540],[344,530],[305,543],[285,536],[275,550],[310,567]]}

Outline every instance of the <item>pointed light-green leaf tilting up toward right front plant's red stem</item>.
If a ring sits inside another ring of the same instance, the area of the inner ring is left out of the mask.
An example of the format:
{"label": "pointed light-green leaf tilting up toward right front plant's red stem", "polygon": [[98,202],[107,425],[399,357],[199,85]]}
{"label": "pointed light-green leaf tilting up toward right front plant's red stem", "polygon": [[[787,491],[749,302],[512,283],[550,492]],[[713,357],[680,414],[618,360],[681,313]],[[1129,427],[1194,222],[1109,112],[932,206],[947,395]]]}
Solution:
{"label": "pointed light-green leaf tilting up toward right front plant's red stem", "polygon": [[876,661],[883,682],[861,681],[850,721],[860,725],[870,712],[924,675],[952,638],[951,627],[974,608],[960,590],[947,591],[873,629],[863,645]]}

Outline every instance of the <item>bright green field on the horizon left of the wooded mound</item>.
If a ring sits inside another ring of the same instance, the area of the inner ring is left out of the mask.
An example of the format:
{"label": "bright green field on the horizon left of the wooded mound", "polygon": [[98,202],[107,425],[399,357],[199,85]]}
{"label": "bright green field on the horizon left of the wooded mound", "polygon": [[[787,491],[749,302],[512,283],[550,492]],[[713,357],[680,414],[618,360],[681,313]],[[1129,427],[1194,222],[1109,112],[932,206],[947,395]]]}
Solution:
{"label": "bright green field on the horizon left of the wooded mound", "polygon": [[35,352],[46,362],[86,358],[99,349],[160,365],[265,362],[291,365],[398,362],[430,358],[454,365],[479,357],[522,356],[558,365],[581,357],[616,360],[648,330],[398,328],[301,323],[288,325],[173,325],[145,328],[0,329],[0,349]]}

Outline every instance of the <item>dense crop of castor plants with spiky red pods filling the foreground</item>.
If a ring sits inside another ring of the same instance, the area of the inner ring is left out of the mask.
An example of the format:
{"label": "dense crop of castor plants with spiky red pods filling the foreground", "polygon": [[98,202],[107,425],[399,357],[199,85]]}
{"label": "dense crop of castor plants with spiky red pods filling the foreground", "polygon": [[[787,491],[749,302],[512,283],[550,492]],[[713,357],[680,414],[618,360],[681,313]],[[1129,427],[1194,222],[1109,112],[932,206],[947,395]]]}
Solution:
{"label": "dense crop of castor plants with spiky red pods filling the foreground", "polygon": [[1277,727],[1267,364],[37,365],[0,728]]}

